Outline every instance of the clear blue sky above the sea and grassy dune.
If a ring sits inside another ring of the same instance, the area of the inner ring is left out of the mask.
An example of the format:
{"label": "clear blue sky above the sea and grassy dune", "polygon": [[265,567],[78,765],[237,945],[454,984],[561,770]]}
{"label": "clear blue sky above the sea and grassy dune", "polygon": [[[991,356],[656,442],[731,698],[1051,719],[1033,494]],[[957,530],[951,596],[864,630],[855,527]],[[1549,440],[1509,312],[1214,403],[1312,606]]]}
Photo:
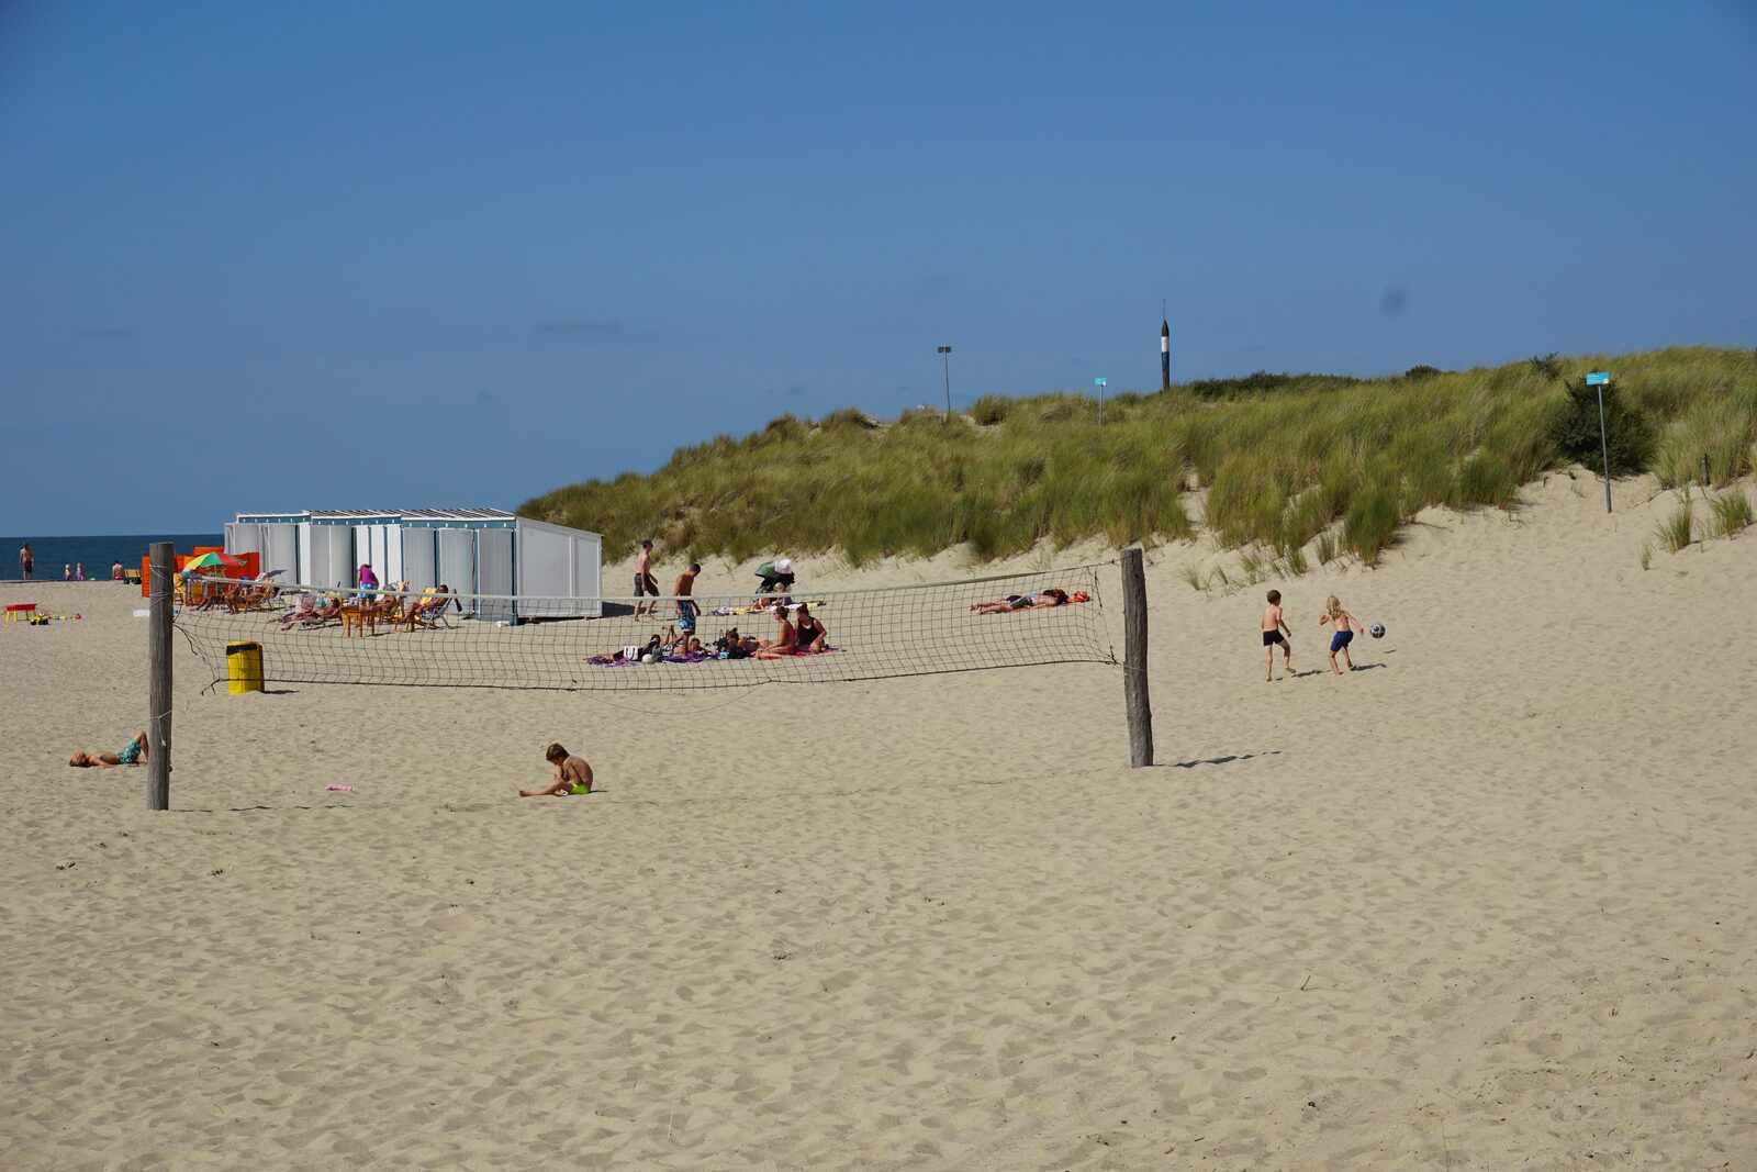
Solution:
{"label": "clear blue sky above the sea and grassy dune", "polygon": [[1757,5],[0,0],[0,532],[1757,343]]}

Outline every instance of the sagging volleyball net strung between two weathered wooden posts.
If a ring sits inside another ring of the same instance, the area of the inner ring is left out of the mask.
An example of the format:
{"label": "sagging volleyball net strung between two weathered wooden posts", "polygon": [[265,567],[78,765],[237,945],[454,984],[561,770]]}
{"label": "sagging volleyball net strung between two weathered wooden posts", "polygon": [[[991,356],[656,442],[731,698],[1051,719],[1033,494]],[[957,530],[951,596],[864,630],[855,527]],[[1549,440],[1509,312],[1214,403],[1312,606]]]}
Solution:
{"label": "sagging volleyball net strung between two weathered wooden posts", "polygon": [[[789,596],[694,596],[685,608],[675,597],[348,594],[195,578],[181,587],[176,629],[214,684],[228,678],[228,654],[241,643],[260,647],[265,684],[682,692],[884,680],[1114,664],[1100,569],[1075,566],[861,590],[792,587]],[[1054,597],[1052,590],[1068,601],[1038,604]],[[794,627],[799,604],[806,606],[822,624],[829,650],[768,657],[768,648],[757,647],[752,654],[752,640],[782,640],[773,608],[778,597]],[[657,613],[634,617],[636,606]],[[694,631],[685,629],[680,610],[694,611]],[[691,636],[701,650],[689,650]],[[664,654],[643,662],[654,638]]]}

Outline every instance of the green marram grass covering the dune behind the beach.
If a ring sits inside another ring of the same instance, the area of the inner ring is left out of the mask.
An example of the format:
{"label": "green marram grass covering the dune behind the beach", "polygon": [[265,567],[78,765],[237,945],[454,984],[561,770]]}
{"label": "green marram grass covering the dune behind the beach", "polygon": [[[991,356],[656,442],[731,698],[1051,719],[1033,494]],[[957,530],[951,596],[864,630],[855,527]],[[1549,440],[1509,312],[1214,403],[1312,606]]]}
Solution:
{"label": "green marram grass covering the dune behind the beach", "polygon": [[1715,485],[1752,471],[1757,355],[1692,346],[1379,380],[1212,380],[1116,395],[1102,427],[1095,402],[1068,394],[986,395],[949,422],[782,415],[520,513],[599,531],[610,550],[654,536],[694,557],[842,550],[854,564],[958,543],[994,559],[1044,539],[1181,541],[1198,515],[1223,546],[1290,568],[1309,546],[1318,562],[1372,564],[1421,508],[1509,508],[1548,469],[1595,469],[1595,406],[1581,413],[1583,374],[1599,369],[1615,378],[1613,471],[1645,467],[1669,487],[1697,480],[1703,455]]}

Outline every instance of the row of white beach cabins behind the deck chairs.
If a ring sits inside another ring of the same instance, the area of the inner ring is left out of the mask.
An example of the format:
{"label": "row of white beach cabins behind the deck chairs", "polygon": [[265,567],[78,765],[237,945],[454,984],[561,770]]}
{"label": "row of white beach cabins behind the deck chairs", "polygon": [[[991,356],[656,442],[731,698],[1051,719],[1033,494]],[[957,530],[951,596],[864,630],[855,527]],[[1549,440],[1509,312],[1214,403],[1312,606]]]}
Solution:
{"label": "row of white beach cabins behind the deck chairs", "polygon": [[[503,510],[306,510],[239,513],[225,527],[228,553],[260,553],[281,582],[353,585],[369,562],[380,582],[425,590],[441,582],[460,594],[569,599],[541,608],[483,601],[476,619],[518,622],[596,619],[604,613],[604,538]],[[529,611],[529,613],[520,613]]]}

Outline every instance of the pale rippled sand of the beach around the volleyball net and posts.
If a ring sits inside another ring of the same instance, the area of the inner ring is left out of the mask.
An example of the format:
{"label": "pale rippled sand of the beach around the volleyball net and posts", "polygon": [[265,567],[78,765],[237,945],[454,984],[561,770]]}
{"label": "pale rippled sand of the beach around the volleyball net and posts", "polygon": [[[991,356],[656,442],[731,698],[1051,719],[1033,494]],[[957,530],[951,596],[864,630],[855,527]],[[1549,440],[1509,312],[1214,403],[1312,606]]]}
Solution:
{"label": "pale rippled sand of the beach around the volleyball net and posts", "polygon": [[[232,698],[179,638],[149,814],[67,766],[144,601],[0,587],[83,615],[0,627],[0,1168],[1757,1168],[1757,532],[1643,571],[1674,506],[1149,552],[1151,770],[1107,666]],[[513,796],[552,740],[601,792]]]}

